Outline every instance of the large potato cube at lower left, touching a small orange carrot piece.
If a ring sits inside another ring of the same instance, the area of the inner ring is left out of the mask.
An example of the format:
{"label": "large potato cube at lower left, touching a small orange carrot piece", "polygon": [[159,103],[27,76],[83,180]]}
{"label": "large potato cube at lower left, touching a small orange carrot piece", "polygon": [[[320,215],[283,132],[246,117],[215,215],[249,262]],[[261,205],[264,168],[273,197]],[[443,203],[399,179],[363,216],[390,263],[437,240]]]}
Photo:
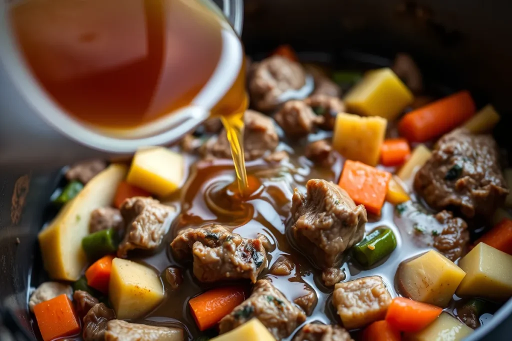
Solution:
{"label": "large potato cube at lower left, touching a small orange carrot piece", "polygon": [[114,258],[109,298],[117,319],[136,319],[162,302],[162,281],[156,272],[147,266]]}

